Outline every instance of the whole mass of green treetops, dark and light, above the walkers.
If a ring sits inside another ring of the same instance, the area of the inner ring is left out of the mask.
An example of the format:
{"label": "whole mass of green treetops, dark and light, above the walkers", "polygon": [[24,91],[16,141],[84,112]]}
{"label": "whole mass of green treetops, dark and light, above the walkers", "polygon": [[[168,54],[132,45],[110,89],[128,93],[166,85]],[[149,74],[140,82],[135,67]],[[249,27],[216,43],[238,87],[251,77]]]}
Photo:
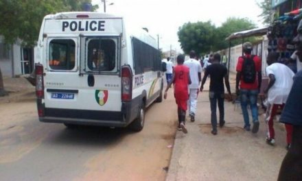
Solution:
{"label": "whole mass of green treetops, dark and light, above the walkers", "polygon": [[[178,41],[185,53],[194,50],[200,53],[209,53],[229,47],[225,40],[230,34],[255,28],[255,24],[248,19],[231,17],[220,27],[215,27],[211,21],[185,23],[178,29]],[[248,39],[251,40],[251,39]],[[242,43],[242,40],[233,40],[232,45]]]}

